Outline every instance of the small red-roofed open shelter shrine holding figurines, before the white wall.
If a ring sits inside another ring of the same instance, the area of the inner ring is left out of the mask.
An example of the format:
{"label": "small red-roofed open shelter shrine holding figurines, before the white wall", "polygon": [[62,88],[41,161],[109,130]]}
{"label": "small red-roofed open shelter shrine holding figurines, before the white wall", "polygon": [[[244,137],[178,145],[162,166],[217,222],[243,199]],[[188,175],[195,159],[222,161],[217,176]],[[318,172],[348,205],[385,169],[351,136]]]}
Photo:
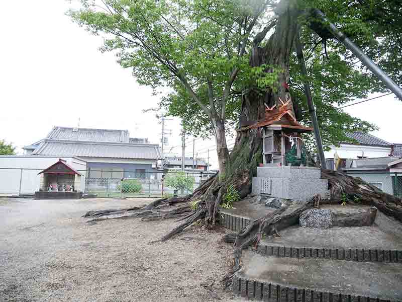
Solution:
{"label": "small red-roofed open shelter shrine holding figurines, before the white wall", "polygon": [[39,191],[35,198],[81,198],[81,174],[67,165],[66,161],[59,161],[49,168],[39,172],[41,176]]}

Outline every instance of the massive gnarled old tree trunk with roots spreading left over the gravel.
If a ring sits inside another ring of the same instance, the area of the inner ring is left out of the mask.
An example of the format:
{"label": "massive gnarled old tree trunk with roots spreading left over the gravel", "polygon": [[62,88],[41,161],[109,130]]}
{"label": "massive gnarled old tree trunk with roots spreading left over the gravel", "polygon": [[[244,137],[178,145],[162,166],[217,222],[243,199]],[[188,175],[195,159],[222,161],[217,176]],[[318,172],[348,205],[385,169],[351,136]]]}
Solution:
{"label": "massive gnarled old tree trunk with roots spreading left over the gravel", "polygon": [[[289,79],[289,57],[296,33],[297,12],[294,8],[290,8],[288,1],[282,1],[282,3],[286,3],[286,6],[278,11],[279,16],[275,33],[264,47],[254,45],[250,56],[251,66],[275,65],[281,68],[282,72],[278,75],[275,89],[270,88],[259,91],[256,87],[251,87],[244,91],[240,123],[254,123],[263,118],[265,114],[264,103],[268,105],[279,104],[278,97],[286,100],[287,89],[284,84]],[[269,68],[267,72],[270,72]],[[204,219],[207,226],[213,226],[216,222],[219,206],[224,200],[227,188],[230,185],[233,184],[236,187],[242,198],[251,192],[251,179],[256,174],[258,164],[262,162],[260,129],[239,131],[236,136],[235,146],[229,156],[225,138],[225,126],[222,119],[219,116],[215,116],[212,118],[212,123],[218,148],[220,177],[216,175],[200,186],[192,195],[176,200],[176,202],[186,202],[188,211],[180,207],[178,213],[184,219],[183,223],[164,236],[162,240],[177,234],[197,219]],[[193,202],[193,205],[196,203],[195,211],[191,211],[191,202]],[[169,204],[169,200],[158,206],[153,206],[152,209],[147,209],[151,213],[146,215],[152,218],[172,217],[172,212],[176,211],[176,209],[162,212],[159,208],[166,204]],[[135,212],[137,211],[142,211],[142,209],[135,210]],[[137,216],[137,213],[131,214]],[[141,212],[140,215],[144,215],[144,213]]]}

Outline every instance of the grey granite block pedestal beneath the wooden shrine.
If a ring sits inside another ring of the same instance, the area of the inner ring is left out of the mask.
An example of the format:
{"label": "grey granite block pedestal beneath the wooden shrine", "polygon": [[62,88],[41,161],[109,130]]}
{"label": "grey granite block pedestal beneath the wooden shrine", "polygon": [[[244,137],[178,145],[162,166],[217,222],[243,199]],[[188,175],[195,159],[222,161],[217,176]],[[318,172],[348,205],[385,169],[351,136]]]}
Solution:
{"label": "grey granite block pedestal beneath the wooden shrine", "polygon": [[317,194],[326,197],[328,181],[315,167],[257,167],[252,193],[293,200],[308,200]]}

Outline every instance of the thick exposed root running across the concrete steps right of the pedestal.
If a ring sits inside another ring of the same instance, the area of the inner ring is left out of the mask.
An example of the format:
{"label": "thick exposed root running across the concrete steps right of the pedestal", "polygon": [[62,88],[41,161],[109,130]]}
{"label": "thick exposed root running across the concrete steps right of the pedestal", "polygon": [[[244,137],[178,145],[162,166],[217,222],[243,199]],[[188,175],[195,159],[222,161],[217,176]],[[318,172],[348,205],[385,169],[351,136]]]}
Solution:
{"label": "thick exposed root running across the concrete steps right of the pedestal", "polygon": [[320,204],[340,204],[345,197],[348,203],[353,205],[373,205],[385,214],[402,221],[402,200],[382,192],[360,178],[354,178],[331,170],[322,170],[322,178],[328,180],[329,198],[322,199],[315,196],[312,200],[303,203],[293,203],[289,207],[282,207],[273,213],[250,222],[239,233],[226,235],[223,240],[234,243],[233,257],[234,268],[225,276],[225,286],[231,284],[231,278],[241,266],[242,250],[250,246],[258,247],[262,236],[278,235],[287,226],[298,223],[300,214],[310,208],[319,207]]}

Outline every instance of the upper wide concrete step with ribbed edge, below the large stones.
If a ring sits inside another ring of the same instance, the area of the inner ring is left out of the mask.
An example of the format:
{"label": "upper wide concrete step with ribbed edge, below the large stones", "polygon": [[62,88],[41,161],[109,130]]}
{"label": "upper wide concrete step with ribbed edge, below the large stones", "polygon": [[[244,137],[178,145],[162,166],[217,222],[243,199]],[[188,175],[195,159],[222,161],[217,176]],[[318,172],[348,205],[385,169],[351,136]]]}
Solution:
{"label": "upper wide concrete step with ribbed edge, below the large stones", "polygon": [[279,233],[281,237],[263,238],[258,253],[300,259],[402,263],[401,238],[376,225],[325,230],[294,226]]}

